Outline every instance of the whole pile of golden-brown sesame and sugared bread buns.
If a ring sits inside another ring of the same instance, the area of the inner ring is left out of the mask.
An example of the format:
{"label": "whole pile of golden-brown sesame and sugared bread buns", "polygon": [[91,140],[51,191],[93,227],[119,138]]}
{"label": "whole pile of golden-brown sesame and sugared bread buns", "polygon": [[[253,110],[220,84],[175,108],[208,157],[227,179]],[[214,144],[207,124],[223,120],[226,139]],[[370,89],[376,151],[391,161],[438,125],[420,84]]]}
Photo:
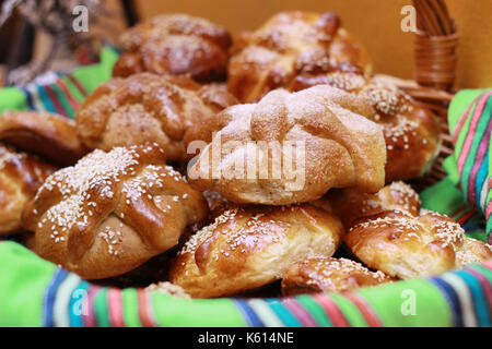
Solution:
{"label": "whole pile of golden-brown sesame and sugared bread buns", "polygon": [[336,14],[279,13],[234,40],[166,14],[120,44],[75,122],[1,117],[2,236],[94,282],[192,298],[344,292],[492,257],[403,182],[431,168],[438,122],[372,75]]}

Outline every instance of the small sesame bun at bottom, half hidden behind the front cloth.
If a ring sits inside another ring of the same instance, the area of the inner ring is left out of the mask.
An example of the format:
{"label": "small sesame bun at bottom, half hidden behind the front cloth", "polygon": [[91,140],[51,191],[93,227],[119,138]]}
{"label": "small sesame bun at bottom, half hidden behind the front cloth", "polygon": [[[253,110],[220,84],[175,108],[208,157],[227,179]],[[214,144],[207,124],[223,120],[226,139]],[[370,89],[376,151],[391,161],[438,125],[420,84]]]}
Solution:
{"label": "small sesame bun at bottom, half hidden behind the front cloth", "polygon": [[371,272],[362,264],[333,257],[311,257],[292,264],[282,277],[282,296],[314,292],[347,292],[360,287],[390,282],[383,272]]}

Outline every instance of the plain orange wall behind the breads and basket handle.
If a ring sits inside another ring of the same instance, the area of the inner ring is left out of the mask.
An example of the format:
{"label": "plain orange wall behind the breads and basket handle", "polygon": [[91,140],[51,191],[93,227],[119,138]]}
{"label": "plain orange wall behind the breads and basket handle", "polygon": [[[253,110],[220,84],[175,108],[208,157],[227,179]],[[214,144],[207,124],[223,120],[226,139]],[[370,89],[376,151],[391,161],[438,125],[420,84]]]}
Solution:
{"label": "plain orange wall behind the breads and basket handle", "polygon": [[[333,11],[343,26],[366,46],[375,71],[413,77],[413,34],[403,33],[400,10],[410,0],[134,0],[141,19],[157,13],[185,12],[222,24],[233,35],[254,29],[285,10]],[[492,1],[447,0],[458,23],[457,87],[492,86]]]}

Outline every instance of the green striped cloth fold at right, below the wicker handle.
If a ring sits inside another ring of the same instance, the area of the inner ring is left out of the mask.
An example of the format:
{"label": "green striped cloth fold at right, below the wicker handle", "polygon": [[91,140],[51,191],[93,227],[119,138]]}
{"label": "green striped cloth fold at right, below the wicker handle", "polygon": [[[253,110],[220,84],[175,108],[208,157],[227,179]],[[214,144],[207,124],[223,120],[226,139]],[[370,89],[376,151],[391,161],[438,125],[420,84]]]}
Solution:
{"label": "green striped cloth fold at right, below the wicker handle", "polygon": [[423,205],[454,217],[467,233],[492,243],[492,89],[457,93],[448,123],[455,146],[455,154],[443,164],[448,177],[421,193]]}

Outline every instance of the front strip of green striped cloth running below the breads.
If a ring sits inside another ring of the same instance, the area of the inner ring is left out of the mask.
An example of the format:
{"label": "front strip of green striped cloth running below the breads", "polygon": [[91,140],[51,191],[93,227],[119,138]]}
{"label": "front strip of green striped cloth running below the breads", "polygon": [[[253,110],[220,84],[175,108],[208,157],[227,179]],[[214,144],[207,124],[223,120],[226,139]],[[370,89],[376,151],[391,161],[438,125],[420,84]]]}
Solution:
{"label": "front strip of green striped cloth running below the breads", "polygon": [[[9,244],[15,243],[0,243],[2,255],[9,254]],[[25,249],[19,253],[19,249],[24,248],[16,245],[12,249],[15,253],[10,253],[14,265],[22,264],[22,257],[38,258]],[[492,261],[440,277],[344,294],[234,300],[184,300],[160,291],[98,287],[49,262],[39,260],[38,264],[52,267],[47,275],[37,273],[38,278],[48,278],[39,302],[40,326],[491,326]],[[8,266],[0,264],[1,268]],[[43,284],[38,278],[32,282]],[[408,290],[415,294],[415,314],[402,310]],[[16,303],[21,308],[15,312],[24,316],[22,303],[15,301],[15,290],[11,291],[7,299],[0,298],[0,309]],[[5,318],[0,317],[0,323],[5,323]]]}

